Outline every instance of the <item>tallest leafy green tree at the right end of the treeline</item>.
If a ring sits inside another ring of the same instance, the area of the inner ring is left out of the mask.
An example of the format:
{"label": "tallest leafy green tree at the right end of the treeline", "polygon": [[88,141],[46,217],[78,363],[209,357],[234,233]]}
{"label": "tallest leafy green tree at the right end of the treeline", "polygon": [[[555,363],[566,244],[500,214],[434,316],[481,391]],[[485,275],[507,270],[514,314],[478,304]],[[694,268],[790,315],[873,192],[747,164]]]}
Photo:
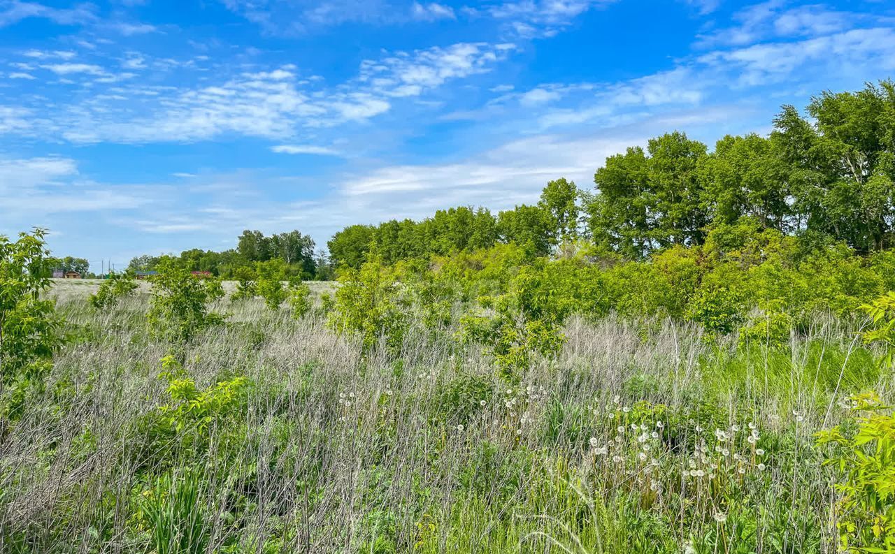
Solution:
{"label": "tallest leafy green tree at the right end of the treeline", "polygon": [[824,92],[807,115],[784,106],[771,135],[805,225],[858,250],[883,248],[895,218],[895,84]]}

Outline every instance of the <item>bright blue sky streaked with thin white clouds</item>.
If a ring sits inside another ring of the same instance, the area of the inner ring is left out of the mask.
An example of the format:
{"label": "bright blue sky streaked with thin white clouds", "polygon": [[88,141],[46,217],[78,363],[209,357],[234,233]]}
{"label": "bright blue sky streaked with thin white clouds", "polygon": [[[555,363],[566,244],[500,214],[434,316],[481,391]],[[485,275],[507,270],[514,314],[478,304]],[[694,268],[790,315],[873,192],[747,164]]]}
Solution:
{"label": "bright blue sky streaked with thin white clouds", "polygon": [[725,0],[0,0],[0,234],[119,267],[592,187],[895,77],[895,5]]}

